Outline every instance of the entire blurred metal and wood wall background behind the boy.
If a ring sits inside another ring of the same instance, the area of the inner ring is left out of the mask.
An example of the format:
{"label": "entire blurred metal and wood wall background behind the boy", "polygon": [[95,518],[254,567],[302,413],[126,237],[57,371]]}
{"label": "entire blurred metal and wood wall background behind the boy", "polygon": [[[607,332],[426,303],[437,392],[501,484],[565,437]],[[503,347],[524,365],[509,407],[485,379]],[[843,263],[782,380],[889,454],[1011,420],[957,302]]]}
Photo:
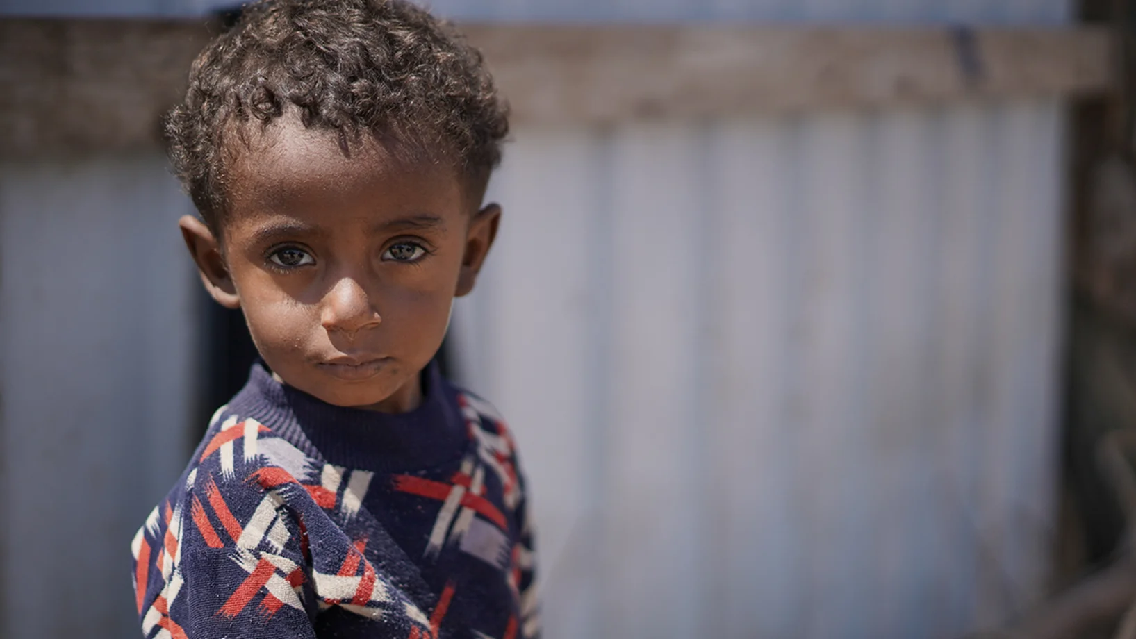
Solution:
{"label": "entire blurred metal and wood wall background behind the boy", "polygon": [[[546,638],[1134,632],[1129,5],[434,2],[517,113],[444,360]],[[137,636],[243,382],[157,136],[227,9],[0,0],[0,637]]]}

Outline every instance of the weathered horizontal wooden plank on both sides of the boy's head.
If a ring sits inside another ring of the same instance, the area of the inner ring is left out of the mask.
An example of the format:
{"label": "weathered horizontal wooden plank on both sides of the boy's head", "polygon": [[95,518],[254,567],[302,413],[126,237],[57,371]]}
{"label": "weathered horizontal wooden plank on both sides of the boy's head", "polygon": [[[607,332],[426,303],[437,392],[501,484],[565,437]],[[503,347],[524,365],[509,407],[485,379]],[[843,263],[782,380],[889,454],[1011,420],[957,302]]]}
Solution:
{"label": "weathered horizontal wooden plank on both sides of the boy's head", "polygon": [[[470,24],[518,123],[712,118],[1109,87],[1104,30]],[[208,30],[0,19],[0,158],[152,148]]]}

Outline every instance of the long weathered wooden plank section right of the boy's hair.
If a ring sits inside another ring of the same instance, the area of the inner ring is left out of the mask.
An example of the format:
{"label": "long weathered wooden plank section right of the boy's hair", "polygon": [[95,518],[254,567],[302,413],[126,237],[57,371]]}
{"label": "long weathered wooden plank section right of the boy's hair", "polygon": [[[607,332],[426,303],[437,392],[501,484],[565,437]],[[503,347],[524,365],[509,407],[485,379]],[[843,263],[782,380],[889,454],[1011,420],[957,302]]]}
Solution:
{"label": "long weathered wooden plank section right of the boy's hair", "polygon": [[1083,94],[1110,81],[1095,28],[469,26],[518,118],[710,118],[971,96]]}

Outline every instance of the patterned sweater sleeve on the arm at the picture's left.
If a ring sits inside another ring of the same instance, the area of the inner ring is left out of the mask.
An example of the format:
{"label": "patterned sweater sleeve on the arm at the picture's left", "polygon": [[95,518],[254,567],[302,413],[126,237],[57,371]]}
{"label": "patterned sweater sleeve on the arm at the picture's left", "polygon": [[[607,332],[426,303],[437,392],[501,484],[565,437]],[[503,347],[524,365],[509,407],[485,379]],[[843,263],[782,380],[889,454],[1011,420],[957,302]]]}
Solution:
{"label": "patterned sweater sleeve on the arm at the picture's left", "polygon": [[236,478],[191,476],[135,537],[143,634],[315,638],[306,540],[275,493]]}

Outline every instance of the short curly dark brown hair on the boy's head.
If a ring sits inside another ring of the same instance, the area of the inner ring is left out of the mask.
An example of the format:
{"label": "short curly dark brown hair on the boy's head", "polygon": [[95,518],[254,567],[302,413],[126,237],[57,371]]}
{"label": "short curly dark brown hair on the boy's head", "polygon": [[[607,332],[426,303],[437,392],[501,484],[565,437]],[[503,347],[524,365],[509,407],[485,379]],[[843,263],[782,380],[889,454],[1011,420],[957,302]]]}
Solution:
{"label": "short curly dark brown hair on the boy's head", "polygon": [[248,6],[193,61],[185,100],[164,120],[174,171],[215,234],[248,125],[290,108],[303,126],[334,132],[344,153],[370,134],[451,161],[482,191],[509,131],[481,53],[408,1]]}

